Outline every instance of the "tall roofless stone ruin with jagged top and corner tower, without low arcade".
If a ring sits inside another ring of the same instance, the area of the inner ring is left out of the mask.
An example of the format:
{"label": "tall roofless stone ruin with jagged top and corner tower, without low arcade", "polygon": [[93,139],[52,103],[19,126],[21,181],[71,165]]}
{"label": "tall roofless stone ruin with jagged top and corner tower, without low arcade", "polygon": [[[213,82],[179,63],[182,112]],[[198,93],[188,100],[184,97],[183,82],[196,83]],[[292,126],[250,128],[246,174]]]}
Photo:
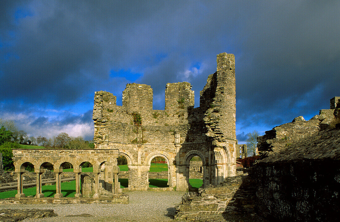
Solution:
{"label": "tall roofless stone ruin with jagged top and corner tower, without low arcade", "polygon": [[193,156],[203,161],[204,185],[236,174],[234,55],[217,55],[217,72],[200,93],[200,107],[194,108],[191,87],[167,83],[164,110],[153,110],[153,90],[145,84],[127,84],[122,106],[112,93],[95,92],[95,148],[118,149],[126,157],[130,188],[147,190],[155,156],[167,160],[169,186],[176,190],[190,189]]}

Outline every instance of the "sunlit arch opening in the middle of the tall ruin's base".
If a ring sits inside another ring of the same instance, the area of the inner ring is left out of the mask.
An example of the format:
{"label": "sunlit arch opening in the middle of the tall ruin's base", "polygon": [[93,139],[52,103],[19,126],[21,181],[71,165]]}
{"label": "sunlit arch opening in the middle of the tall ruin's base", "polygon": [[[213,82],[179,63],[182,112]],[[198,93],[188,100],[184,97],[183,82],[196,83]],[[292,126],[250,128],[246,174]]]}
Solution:
{"label": "sunlit arch opening in the middle of the tall ruin's base", "polygon": [[162,155],[153,157],[149,169],[149,187],[169,187],[169,161]]}

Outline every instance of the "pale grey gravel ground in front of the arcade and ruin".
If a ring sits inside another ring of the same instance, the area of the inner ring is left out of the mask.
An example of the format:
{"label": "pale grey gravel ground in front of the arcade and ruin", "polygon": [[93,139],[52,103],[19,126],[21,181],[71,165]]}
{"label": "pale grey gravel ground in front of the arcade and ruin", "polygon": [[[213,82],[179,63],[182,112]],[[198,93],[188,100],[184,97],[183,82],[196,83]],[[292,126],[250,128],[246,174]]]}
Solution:
{"label": "pale grey gravel ground in front of the arcade and ruin", "polygon": [[[185,192],[129,193],[129,204],[12,204],[0,205],[11,209],[53,209],[58,215],[52,218],[26,219],[23,222],[152,222],[173,221],[175,205],[180,204]],[[93,217],[66,217],[90,214]]]}

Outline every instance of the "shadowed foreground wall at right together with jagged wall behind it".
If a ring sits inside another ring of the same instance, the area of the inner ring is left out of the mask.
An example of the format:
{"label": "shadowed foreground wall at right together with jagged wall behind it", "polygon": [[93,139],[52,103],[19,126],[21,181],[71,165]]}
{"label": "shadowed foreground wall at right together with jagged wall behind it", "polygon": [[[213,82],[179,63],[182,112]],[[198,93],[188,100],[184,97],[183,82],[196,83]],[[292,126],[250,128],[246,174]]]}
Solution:
{"label": "shadowed foreground wall at right together with jagged wall behind it", "polygon": [[269,153],[252,169],[256,206],[263,217],[339,221],[339,103],[333,107],[308,121],[297,117],[258,137],[261,151]]}

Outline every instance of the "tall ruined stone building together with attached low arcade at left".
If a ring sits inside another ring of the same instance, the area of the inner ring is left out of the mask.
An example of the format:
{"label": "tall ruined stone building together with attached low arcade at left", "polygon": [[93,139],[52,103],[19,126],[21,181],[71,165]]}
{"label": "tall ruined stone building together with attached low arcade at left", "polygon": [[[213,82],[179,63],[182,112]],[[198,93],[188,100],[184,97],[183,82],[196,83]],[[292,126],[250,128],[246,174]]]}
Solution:
{"label": "tall ruined stone building together with attached low arcade at left", "polygon": [[73,165],[75,197],[82,197],[79,175],[85,161],[94,167],[94,198],[100,198],[105,190],[112,194],[122,192],[117,166],[120,155],[128,161],[127,190],[149,188],[148,171],[156,156],[164,157],[168,163],[168,190],[187,191],[191,188],[189,166],[193,156],[202,159],[203,185],[219,184],[226,177],[235,176],[237,140],[233,54],[217,55],[217,71],[208,76],[207,84],[200,91],[200,107],[194,108],[194,92],[187,82],[166,85],[165,110],[153,110],[152,102],[152,88],[144,84],[127,84],[122,106],[116,105],[112,93],[95,92],[95,149],[13,150],[18,175],[16,198],[24,197],[22,173],[27,163],[34,165],[37,174],[36,198],[44,197],[41,174],[46,163],[51,163],[56,172],[55,198],[62,198],[60,174],[66,162]]}

